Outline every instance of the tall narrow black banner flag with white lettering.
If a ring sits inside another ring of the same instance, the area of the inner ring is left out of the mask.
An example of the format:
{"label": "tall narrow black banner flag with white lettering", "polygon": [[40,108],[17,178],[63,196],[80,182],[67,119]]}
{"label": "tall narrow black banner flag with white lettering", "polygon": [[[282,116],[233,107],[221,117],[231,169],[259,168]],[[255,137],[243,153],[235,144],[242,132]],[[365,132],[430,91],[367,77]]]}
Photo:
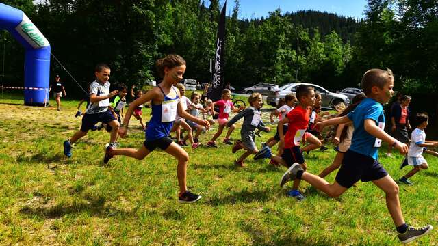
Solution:
{"label": "tall narrow black banner flag with white lettering", "polygon": [[211,91],[208,97],[217,101],[222,95],[222,89],[224,88],[224,49],[225,49],[225,12],[227,12],[227,1],[225,1],[224,7],[220,12],[219,25],[218,25],[218,37],[216,38],[216,55],[214,57],[213,67],[213,81],[211,81]]}

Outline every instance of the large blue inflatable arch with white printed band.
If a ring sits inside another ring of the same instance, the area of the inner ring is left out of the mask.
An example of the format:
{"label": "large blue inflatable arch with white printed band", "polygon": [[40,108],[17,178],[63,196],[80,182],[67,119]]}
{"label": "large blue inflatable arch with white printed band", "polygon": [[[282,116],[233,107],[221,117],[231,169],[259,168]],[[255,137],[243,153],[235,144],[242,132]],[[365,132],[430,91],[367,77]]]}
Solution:
{"label": "large blue inflatable arch with white printed band", "polygon": [[23,11],[0,3],[0,29],[8,30],[26,49],[25,105],[49,102],[50,44]]}

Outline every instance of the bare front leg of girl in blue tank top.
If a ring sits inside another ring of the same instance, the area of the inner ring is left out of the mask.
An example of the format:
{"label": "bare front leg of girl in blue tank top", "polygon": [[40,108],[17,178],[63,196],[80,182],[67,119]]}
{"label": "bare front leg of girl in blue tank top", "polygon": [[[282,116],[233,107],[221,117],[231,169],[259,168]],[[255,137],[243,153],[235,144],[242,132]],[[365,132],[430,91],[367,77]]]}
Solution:
{"label": "bare front leg of girl in blue tank top", "polygon": [[178,160],[177,178],[179,184],[179,193],[182,194],[187,191],[186,176],[189,155],[177,143],[170,143],[170,146],[164,151],[172,156],[175,156],[175,158]]}

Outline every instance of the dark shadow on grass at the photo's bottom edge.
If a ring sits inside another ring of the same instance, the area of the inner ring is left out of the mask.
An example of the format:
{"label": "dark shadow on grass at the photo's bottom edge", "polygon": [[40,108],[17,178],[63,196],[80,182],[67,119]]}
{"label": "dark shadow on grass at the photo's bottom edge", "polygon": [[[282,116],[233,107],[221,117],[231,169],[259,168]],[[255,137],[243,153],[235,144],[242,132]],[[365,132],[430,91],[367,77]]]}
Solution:
{"label": "dark shadow on grass at the photo's bottom edge", "polygon": [[309,241],[309,239],[296,236],[294,232],[287,233],[286,236],[273,236],[250,224],[245,224],[242,229],[250,234],[254,245],[333,245],[327,241]]}

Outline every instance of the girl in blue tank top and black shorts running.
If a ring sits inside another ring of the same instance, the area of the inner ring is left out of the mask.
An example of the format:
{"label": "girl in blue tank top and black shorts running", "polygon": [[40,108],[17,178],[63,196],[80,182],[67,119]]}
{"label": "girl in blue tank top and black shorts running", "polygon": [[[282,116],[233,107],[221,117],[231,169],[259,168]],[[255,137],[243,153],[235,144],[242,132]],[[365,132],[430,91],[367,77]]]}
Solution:
{"label": "girl in blue tank top and black shorts running", "polygon": [[181,101],[179,100],[179,98],[181,98],[179,90],[177,90],[174,85],[179,83],[183,78],[185,60],[179,55],[168,55],[157,61],[157,70],[159,75],[163,77],[162,83],[159,83],[157,87],[154,87],[141,98],[131,102],[119,131],[120,136],[124,137],[127,134],[129,120],[131,119],[134,109],[136,109],[138,105],[152,100],[152,118],[149,121],[148,128],[146,128],[146,140],[137,150],[133,148],[116,149],[113,146],[107,146],[105,151],[105,163],[107,163],[112,156],[116,155],[124,155],[142,160],[158,147],[168,154],[175,156],[175,159],[178,160],[177,178],[179,184],[179,202],[193,203],[200,200],[201,195],[191,193],[187,189],[186,174],[189,156],[181,146],[174,143],[168,136],[177,112],[183,118],[192,120],[207,128],[209,124],[207,120],[195,118],[183,111]]}

